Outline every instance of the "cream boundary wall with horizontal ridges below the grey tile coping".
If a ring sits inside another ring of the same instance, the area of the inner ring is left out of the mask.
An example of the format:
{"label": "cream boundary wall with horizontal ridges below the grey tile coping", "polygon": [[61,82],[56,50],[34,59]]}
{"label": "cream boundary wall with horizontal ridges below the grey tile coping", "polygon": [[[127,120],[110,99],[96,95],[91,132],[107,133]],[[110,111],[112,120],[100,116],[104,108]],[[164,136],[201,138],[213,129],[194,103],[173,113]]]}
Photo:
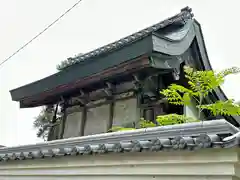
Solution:
{"label": "cream boundary wall with horizontal ridges below the grey tile coping", "polygon": [[0,163],[0,180],[237,180],[239,151],[109,153]]}

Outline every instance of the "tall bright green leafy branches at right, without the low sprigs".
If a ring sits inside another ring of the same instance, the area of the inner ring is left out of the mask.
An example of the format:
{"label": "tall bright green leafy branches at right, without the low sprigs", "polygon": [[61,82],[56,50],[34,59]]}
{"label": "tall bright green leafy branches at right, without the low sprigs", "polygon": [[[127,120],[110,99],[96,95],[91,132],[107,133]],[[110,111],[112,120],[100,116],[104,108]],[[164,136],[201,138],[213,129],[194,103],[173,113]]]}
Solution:
{"label": "tall bright green leafy branches at right, without the low sprigs", "polygon": [[234,103],[233,100],[217,101],[207,105],[203,104],[203,99],[221,86],[226,76],[239,73],[239,68],[228,68],[217,73],[212,70],[195,71],[193,68],[185,66],[184,72],[189,88],[171,84],[167,89],[160,92],[167,97],[169,103],[188,106],[191,99],[195,99],[199,112],[199,120],[203,110],[209,110],[213,115],[240,115],[240,106]]}

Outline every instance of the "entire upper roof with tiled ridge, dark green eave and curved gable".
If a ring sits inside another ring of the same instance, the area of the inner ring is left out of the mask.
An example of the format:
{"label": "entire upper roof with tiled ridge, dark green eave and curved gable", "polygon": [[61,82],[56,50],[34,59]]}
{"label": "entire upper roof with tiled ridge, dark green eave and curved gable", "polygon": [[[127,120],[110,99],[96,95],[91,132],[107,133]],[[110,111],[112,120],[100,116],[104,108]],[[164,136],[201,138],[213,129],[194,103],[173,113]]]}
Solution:
{"label": "entire upper roof with tiled ridge, dark green eave and curved gable", "polygon": [[[191,10],[181,13],[133,35],[82,55],[77,64],[52,76],[11,90],[14,101],[20,107],[36,107],[57,102],[61,96],[98,81],[132,73],[147,67],[162,69],[163,61],[149,60],[152,54],[168,57],[181,56],[192,44],[196,44],[194,62],[198,68],[212,70],[200,24],[192,19]],[[102,51],[102,53],[100,52]],[[87,60],[86,60],[87,59]],[[221,88],[213,93],[213,101],[227,100]],[[239,127],[240,117],[225,117]]]}

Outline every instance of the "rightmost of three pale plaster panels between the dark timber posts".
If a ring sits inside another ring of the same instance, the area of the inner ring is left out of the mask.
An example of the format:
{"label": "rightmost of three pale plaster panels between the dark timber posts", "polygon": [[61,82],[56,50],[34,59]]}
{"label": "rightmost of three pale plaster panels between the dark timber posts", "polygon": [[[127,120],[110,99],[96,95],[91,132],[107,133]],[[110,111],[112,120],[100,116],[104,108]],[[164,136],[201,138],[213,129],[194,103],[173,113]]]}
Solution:
{"label": "rightmost of three pale plaster panels between the dark timber posts", "polygon": [[136,122],[137,99],[119,100],[114,106],[113,126],[124,126]]}

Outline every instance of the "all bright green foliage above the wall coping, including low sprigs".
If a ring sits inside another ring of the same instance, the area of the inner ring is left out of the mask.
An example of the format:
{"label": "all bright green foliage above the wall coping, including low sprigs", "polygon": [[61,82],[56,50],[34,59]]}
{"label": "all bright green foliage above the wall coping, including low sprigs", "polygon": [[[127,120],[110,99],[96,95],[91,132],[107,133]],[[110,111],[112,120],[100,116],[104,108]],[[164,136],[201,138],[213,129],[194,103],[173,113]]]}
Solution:
{"label": "all bright green foliage above the wall coping, including low sprigs", "polygon": [[[191,67],[185,66],[184,72],[185,77],[188,80],[188,88],[178,84],[171,84],[167,89],[160,91],[160,93],[168,99],[170,104],[174,105],[189,106],[191,104],[191,100],[194,99],[196,101],[196,108],[198,109],[198,119],[178,114],[161,115],[156,119],[158,123],[157,125],[151,121],[141,119],[141,128],[182,124],[203,120],[201,119],[201,112],[203,110],[208,110],[213,115],[240,115],[240,105],[234,103],[231,99],[226,101],[217,101],[212,104],[203,104],[204,99],[224,83],[225,77],[231,74],[239,73],[239,68],[233,67],[217,73],[212,70],[196,71]],[[126,129],[118,127],[116,130],[129,130],[129,128]]]}

